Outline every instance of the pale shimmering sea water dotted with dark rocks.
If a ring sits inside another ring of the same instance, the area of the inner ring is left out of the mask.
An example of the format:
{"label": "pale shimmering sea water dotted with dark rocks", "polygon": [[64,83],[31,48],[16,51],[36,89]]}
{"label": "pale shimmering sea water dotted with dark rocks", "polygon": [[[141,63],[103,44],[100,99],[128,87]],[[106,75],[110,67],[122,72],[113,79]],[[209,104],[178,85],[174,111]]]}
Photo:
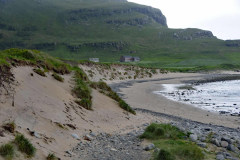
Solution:
{"label": "pale shimmering sea water dotted with dark rocks", "polygon": [[163,84],[163,87],[162,91],[155,91],[154,93],[201,109],[221,114],[240,115],[240,80],[203,83],[192,86],[186,84]]}

